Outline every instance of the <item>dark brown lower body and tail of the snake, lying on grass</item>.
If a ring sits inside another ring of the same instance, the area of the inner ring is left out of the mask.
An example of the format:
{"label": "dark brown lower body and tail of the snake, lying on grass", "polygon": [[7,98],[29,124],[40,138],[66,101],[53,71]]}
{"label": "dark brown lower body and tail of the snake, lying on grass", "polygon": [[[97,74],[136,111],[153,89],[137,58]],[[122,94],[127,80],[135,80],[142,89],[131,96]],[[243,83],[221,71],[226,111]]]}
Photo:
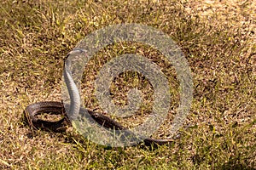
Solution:
{"label": "dark brown lower body and tail of the snake, lying on grass", "polygon": [[[108,116],[103,115],[102,113],[97,113],[94,111],[88,111],[90,116],[99,123],[102,127],[114,128],[118,130],[127,130],[126,127],[123,127],[119,122],[114,121]],[[39,119],[37,116],[42,113],[50,113],[54,115],[61,115],[61,120],[50,122]],[[65,111],[64,105],[61,102],[55,101],[44,101],[34,103],[32,105],[26,106],[25,109],[26,119],[29,122],[30,126],[34,128],[41,128],[44,130],[49,130],[53,132],[61,132],[65,131],[67,127],[71,126],[71,122],[67,117],[67,113]],[[143,143],[145,145],[161,145],[161,144],[171,144],[173,143],[173,139],[143,139]]]}

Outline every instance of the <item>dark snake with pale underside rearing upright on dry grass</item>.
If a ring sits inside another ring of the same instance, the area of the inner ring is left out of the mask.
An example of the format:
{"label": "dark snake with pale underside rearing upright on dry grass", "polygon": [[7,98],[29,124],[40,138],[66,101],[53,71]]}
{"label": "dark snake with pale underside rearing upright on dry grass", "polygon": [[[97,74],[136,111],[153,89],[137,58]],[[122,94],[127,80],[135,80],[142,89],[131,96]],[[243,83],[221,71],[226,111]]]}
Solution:
{"label": "dark snake with pale underside rearing upright on dry grass", "polygon": [[[72,54],[72,53],[69,53],[69,54]],[[69,54],[67,54],[67,57]],[[81,108],[80,108],[79,92],[75,82],[73,81],[71,71],[69,71],[69,65],[70,65],[69,61],[65,59],[63,76],[64,76],[64,81],[66,83],[68,94],[70,96],[70,101],[71,101],[69,105],[69,112],[73,113],[75,111],[79,112]],[[102,127],[111,128],[115,130],[125,130],[128,133],[132,133],[127,127],[124,127],[119,122],[116,122],[115,120],[111,119],[110,117],[100,112],[91,111],[89,109],[87,109],[87,111],[90,117],[96,123],[98,123],[98,125]],[[27,105],[24,112],[26,116],[26,121],[32,128],[36,128],[36,129],[39,128],[39,129],[52,131],[52,132],[62,132],[67,130],[67,127],[72,126],[70,118],[72,119],[72,117],[74,116],[74,115],[67,116],[67,111],[65,110],[63,102],[58,102],[58,101],[41,101],[41,102],[33,103],[31,105]],[[41,115],[43,113],[50,114],[50,115],[60,115],[61,119],[57,121],[47,121],[39,118],[38,115]],[[174,141],[173,138],[172,139],[145,138],[141,141],[141,143],[148,146],[150,145],[156,146],[156,145],[163,145],[163,144],[172,144],[173,141]]]}

